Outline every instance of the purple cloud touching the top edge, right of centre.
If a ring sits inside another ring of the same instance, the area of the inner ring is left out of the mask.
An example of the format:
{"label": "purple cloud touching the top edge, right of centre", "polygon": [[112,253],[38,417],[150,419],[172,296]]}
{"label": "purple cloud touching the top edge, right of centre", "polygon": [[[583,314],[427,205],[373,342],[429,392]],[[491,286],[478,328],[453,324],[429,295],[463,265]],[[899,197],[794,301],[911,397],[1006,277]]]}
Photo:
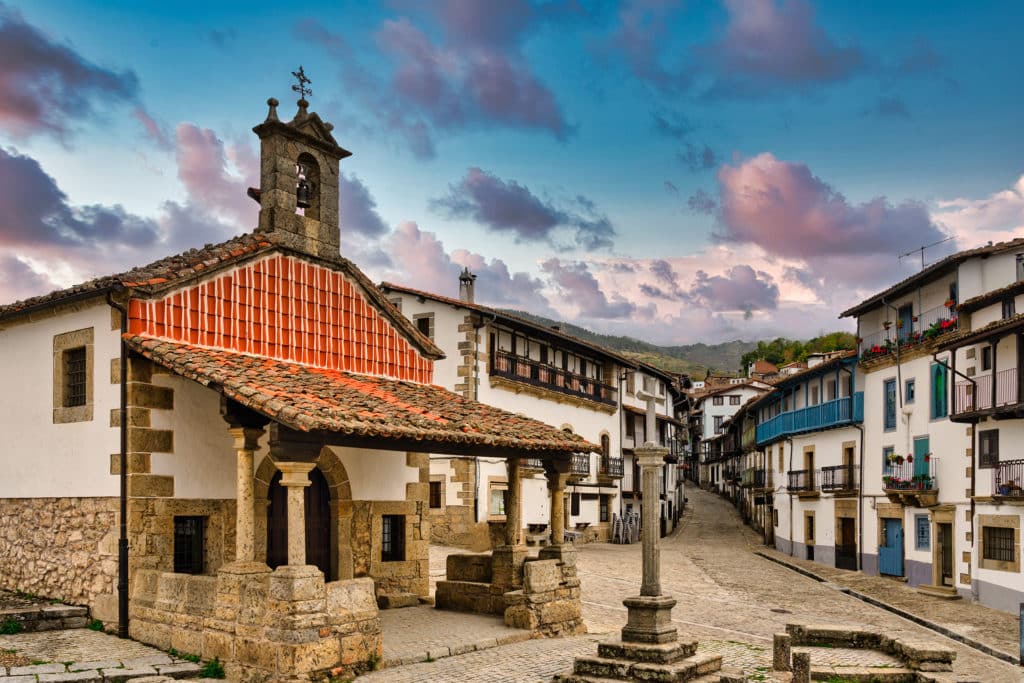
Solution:
{"label": "purple cloud touching the top edge, right of centre", "polygon": [[724,0],[729,22],[700,50],[716,72],[713,94],[760,95],[841,82],[865,67],[856,45],[833,41],[807,0]]}

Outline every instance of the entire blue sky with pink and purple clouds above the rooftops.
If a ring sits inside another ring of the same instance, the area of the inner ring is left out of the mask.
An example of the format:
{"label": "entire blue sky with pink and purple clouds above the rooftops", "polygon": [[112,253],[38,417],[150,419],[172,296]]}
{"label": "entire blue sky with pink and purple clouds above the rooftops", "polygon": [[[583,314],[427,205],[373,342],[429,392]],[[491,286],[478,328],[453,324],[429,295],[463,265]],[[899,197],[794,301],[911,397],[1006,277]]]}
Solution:
{"label": "entire blue sky with pink and purple clouds above the rooftops", "polygon": [[[1024,236],[1020,2],[0,0],[0,302],[251,231],[292,72],[373,280],[660,344]],[[900,258],[901,254],[910,256]]]}

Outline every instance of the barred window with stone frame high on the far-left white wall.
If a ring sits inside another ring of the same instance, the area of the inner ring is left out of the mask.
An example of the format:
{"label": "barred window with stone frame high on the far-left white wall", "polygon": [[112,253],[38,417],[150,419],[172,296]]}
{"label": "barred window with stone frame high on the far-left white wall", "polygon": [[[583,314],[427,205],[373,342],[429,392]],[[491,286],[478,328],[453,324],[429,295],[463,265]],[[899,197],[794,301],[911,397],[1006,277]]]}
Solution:
{"label": "barred window with stone frame high on the far-left white wall", "polygon": [[53,337],[53,423],[92,420],[93,330]]}

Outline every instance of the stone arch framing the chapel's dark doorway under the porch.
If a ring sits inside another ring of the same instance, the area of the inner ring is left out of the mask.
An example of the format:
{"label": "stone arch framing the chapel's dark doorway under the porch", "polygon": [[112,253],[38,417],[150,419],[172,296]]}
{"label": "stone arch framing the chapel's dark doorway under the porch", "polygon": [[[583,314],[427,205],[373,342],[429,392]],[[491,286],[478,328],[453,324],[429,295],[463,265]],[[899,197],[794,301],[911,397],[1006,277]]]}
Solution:
{"label": "stone arch framing the chapel's dark doorway under the porch", "polygon": [[[331,557],[332,573],[339,581],[352,578],[352,487],[348,471],[338,454],[329,446],[321,449],[314,461],[327,479],[331,495]],[[256,557],[266,561],[266,513],[270,481],[278,472],[273,456],[267,454],[256,468],[253,484],[253,506],[256,519]]]}

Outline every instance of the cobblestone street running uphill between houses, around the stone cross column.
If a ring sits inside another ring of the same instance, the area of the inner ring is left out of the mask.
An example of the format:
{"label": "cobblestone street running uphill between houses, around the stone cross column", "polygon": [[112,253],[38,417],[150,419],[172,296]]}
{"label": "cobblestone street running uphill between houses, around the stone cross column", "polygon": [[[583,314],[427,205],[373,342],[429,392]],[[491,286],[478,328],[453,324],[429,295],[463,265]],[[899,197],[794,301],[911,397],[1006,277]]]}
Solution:
{"label": "cobblestone street running uphill between houses, around the stone cross column", "polygon": [[[771,663],[772,634],[787,623],[873,627],[952,647],[953,680],[1015,683],[1024,680],[1013,665],[916,626],[755,555],[759,539],[726,501],[687,490],[690,507],[682,528],[662,541],[664,592],[678,600],[673,611],[680,634],[697,638],[700,651],[720,652],[724,664],[755,677]],[[387,669],[360,681],[507,681],[538,683],[571,667],[572,657],[595,653],[596,640],[622,628],[625,597],[639,591],[640,547],[591,544],[580,548],[584,617],[588,636],[535,640],[431,663]],[[931,600],[922,596],[923,601]],[[963,608],[959,606],[958,608]],[[385,634],[385,638],[386,638]],[[837,650],[829,660],[884,663],[885,655]]]}

